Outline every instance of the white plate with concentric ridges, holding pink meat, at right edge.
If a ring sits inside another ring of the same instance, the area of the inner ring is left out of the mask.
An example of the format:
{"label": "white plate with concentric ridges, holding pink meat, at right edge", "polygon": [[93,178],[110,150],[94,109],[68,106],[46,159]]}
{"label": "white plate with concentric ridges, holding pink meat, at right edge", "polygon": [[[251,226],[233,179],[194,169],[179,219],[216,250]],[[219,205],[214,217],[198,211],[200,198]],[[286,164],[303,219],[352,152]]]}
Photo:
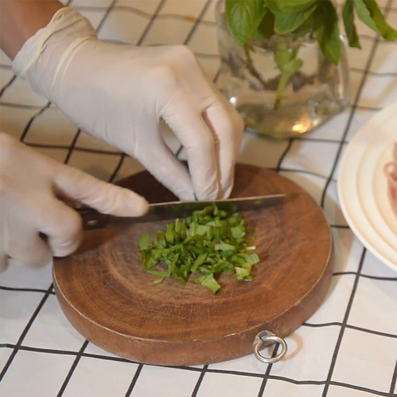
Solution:
{"label": "white plate with concentric ridges, holding pink meat, at right edge", "polygon": [[351,139],[338,174],[340,206],[350,228],[377,258],[397,271],[397,217],[388,198],[385,164],[397,142],[397,103]]}

